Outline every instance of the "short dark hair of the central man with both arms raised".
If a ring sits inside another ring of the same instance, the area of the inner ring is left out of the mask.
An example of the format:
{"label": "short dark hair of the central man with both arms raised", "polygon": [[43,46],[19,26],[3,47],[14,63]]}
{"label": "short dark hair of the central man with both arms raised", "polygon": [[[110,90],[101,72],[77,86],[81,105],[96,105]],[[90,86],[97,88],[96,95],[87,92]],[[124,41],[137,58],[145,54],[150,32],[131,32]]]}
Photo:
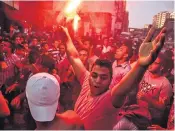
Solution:
{"label": "short dark hair of the central man with both arms raised", "polygon": [[112,63],[107,59],[97,59],[94,64],[92,65],[91,71],[94,68],[95,65],[98,65],[100,67],[106,67],[109,70],[110,78],[112,78]]}

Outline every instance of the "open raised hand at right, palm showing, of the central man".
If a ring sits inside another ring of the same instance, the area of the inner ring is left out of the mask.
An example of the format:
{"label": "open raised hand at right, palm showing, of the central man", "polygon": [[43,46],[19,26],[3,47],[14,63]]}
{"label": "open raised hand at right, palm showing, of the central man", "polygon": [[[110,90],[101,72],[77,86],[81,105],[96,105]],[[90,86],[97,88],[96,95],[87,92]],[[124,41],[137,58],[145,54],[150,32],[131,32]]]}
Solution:
{"label": "open raised hand at right, palm showing, of the central man", "polygon": [[152,64],[164,45],[166,28],[163,28],[159,35],[151,41],[154,33],[155,28],[152,27],[139,48],[138,62],[141,66],[149,66]]}

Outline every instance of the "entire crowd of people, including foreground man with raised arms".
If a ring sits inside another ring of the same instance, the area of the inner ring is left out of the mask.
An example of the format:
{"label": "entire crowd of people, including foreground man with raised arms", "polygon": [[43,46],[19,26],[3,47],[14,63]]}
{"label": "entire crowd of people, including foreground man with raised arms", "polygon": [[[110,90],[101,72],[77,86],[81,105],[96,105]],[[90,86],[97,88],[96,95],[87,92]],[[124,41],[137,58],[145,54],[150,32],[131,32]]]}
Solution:
{"label": "entire crowd of people, including foreground man with raised arms", "polygon": [[[166,29],[133,41],[52,32],[0,36],[0,129],[174,130]],[[7,126],[8,125],[8,126]]]}

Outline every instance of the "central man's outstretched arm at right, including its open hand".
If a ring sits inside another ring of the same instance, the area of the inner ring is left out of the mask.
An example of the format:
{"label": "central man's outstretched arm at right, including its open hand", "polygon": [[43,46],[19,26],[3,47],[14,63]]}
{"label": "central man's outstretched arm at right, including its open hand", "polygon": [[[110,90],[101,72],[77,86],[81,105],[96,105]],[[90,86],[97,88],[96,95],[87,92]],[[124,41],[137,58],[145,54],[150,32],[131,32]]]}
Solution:
{"label": "central man's outstretched arm at right, including its open hand", "polygon": [[139,59],[136,65],[132,68],[125,77],[116,85],[112,91],[112,103],[115,107],[121,107],[124,103],[125,97],[133,87],[137,87],[141,81],[148,66],[151,65],[157,58],[165,41],[166,29],[163,28],[159,35],[151,42],[155,29],[151,28],[144,42],[139,49]]}

